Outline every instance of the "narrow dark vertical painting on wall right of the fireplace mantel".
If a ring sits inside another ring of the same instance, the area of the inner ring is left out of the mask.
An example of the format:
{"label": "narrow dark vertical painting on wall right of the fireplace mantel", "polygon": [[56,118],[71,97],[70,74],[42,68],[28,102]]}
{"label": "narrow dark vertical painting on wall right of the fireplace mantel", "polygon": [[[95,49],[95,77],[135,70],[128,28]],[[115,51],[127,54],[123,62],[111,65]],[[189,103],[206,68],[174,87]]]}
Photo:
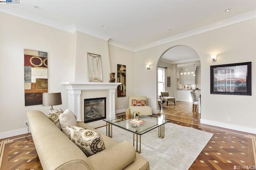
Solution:
{"label": "narrow dark vertical painting on wall right of the fireplace mantel", "polygon": [[126,96],[126,66],[117,64],[117,82],[121,82],[121,85],[117,87],[117,97]]}

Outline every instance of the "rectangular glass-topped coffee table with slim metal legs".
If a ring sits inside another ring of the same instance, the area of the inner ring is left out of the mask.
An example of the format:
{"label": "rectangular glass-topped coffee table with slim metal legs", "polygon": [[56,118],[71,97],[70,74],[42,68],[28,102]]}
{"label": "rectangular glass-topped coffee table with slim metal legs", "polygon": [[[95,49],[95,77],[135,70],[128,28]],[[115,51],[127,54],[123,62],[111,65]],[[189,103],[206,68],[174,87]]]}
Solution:
{"label": "rectangular glass-topped coffee table with slim metal legs", "polygon": [[[141,151],[141,135],[147,133],[158,127],[158,137],[164,138],[164,124],[169,122],[165,120],[164,117],[150,117],[150,116],[140,116],[141,120],[144,120],[146,123],[136,124],[130,122],[131,119],[125,119],[122,116],[110,117],[108,119],[103,119],[106,121],[106,135],[112,137],[112,125],[124,129],[133,133],[133,146],[135,147],[135,137],[136,136],[136,152],[140,153]],[[139,136],[139,149],[138,149],[138,136]]]}

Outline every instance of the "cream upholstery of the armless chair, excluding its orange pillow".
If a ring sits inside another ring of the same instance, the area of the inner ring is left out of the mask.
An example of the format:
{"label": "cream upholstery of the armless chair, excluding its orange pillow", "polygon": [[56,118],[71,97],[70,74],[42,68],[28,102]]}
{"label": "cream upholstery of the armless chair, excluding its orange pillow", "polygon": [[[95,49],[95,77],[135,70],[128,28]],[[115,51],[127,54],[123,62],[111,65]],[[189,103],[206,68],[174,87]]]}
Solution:
{"label": "cream upholstery of the armless chair, excluding its orange pillow", "polygon": [[[132,99],[146,100],[147,106],[132,106]],[[140,112],[141,115],[152,115],[152,108],[148,106],[146,96],[129,96],[128,100],[129,100],[128,106],[130,108],[131,114],[133,114],[134,111],[138,111]]]}

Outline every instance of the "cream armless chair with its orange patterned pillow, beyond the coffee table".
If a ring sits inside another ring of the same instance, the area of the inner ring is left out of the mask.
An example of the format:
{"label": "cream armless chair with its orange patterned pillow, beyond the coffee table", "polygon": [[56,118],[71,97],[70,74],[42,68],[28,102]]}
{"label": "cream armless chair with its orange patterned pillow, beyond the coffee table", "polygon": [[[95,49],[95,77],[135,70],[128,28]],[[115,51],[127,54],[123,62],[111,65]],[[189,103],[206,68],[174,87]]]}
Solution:
{"label": "cream armless chair with its orange patterned pillow, beyond the coffee table", "polygon": [[152,108],[147,105],[146,96],[129,96],[128,100],[131,114],[138,111],[141,115],[152,115]]}

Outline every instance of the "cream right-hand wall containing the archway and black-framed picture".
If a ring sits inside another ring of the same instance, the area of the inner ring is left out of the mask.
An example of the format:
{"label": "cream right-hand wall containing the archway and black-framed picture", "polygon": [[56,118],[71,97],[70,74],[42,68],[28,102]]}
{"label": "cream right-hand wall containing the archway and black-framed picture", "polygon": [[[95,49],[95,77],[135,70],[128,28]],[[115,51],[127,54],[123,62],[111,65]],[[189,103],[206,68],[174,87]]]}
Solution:
{"label": "cream right-hand wall containing the archway and black-framed picture", "polygon": [[[156,102],[156,69],[158,59],[166,49],[175,45],[188,45],[201,60],[201,122],[229,129],[256,133],[256,18],[207,31],[135,53],[135,94],[146,95]],[[218,54],[212,62],[210,54]],[[145,62],[151,69],[145,70]],[[210,65],[252,62],[252,96],[210,94]],[[146,88],[145,88],[146,87]],[[153,93],[152,93],[153,92]],[[155,93],[154,93],[155,92]],[[156,103],[152,104],[153,109]],[[227,122],[231,117],[231,122]]]}

